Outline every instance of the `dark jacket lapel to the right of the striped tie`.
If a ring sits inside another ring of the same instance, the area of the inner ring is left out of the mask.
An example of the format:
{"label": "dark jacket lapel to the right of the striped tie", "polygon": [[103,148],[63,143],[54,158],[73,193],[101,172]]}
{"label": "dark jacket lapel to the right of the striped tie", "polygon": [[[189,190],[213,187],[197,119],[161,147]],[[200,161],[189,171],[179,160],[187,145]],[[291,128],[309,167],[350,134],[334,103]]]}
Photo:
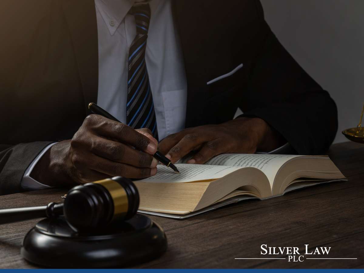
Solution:
{"label": "dark jacket lapel to the right of the striped tie", "polygon": [[198,105],[206,96],[208,54],[205,44],[208,33],[205,32],[209,28],[202,16],[205,5],[205,1],[173,1],[173,16],[179,31],[187,78],[186,127],[199,122]]}

